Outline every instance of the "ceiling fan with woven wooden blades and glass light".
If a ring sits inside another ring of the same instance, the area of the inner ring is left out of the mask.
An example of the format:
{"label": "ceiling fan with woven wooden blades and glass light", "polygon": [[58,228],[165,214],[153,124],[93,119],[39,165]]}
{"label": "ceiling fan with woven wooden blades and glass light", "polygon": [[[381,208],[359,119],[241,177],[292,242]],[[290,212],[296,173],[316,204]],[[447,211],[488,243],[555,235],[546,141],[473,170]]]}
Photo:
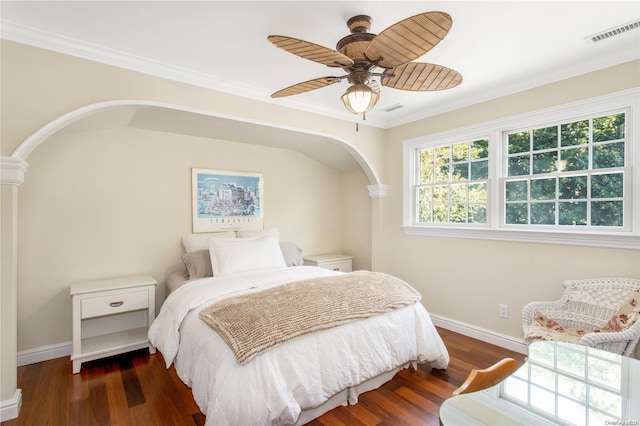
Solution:
{"label": "ceiling fan with woven wooden blades and glass light", "polygon": [[[453,21],[444,12],[425,12],[391,25],[380,34],[371,34],[371,17],[358,15],[347,21],[351,34],[342,38],[336,50],[293,37],[270,35],[277,47],[346,74],[320,77],[294,84],[271,95],[272,98],[298,95],[320,89],[344,79],[350,86],[342,95],[344,106],[354,114],[371,110],[383,86],[408,91],[433,91],[456,87],[462,75],[452,69],[423,62],[412,62],[435,47],[449,32]],[[380,70],[381,69],[381,70]]]}

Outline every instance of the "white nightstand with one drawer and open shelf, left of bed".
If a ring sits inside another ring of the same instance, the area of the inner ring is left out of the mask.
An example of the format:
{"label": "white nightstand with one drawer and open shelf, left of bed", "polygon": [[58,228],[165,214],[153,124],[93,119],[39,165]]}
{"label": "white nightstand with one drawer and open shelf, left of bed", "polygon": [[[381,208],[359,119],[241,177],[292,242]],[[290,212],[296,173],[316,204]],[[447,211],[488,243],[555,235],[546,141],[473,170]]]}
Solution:
{"label": "white nightstand with one drawer and open shelf, left of bed", "polygon": [[73,298],[73,374],[83,362],[149,347],[157,281],[148,275],[79,282]]}

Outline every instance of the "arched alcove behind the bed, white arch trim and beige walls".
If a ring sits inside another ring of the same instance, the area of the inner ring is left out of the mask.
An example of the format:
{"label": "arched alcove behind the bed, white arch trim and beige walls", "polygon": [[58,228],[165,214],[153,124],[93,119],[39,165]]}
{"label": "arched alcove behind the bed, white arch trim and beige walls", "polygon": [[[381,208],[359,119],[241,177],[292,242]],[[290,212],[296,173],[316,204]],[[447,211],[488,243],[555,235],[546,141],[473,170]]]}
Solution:
{"label": "arched alcove behind the bed, white arch trim and beige walls", "polygon": [[[176,155],[178,149],[191,154]],[[150,273],[162,283],[183,267],[191,167],[265,167],[271,212],[265,227],[280,228],[281,239],[299,244],[303,254],[346,249],[356,268],[371,269],[372,223],[384,185],[357,148],[329,135],[175,105],[110,101],[53,120],[11,159],[22,173],[29,162],[18,182],[15,225],[19,364],[37,361],[30,352],[38,347],[52,348],[44,359],[70,351],[70,326],[59,324],[70,324],[71,282]],[[159,307],[164,291],[157,295]]]}

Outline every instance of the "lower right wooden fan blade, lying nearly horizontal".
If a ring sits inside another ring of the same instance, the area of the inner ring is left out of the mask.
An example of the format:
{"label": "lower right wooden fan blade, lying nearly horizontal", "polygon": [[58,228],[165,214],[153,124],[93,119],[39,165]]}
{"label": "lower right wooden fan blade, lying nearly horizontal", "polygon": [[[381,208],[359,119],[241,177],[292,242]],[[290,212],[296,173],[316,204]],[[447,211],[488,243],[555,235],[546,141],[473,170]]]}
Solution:
{"label": "lower right wooden fan blade, lying nearly horizontal", "polygon": [[462,83],[462,75],[450,68],[409,62],[388,71],[382,85],[400,90],[431,91],[451,89]]}

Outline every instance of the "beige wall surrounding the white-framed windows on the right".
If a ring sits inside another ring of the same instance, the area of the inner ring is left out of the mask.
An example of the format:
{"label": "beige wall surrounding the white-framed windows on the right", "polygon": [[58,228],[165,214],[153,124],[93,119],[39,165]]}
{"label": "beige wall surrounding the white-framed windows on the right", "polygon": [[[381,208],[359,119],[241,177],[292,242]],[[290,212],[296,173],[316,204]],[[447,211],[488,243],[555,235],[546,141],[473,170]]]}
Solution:
{"label": "beige wall surrounding the white-framed windows on the right", "polygon": [[[414,284],[431,313],[515,338],[522,337],[524,304],[557,299],[566,279],[640,278],[638,250],[409,236],[401,229],[403,140],[639,86],[635,61],[390,130],[385,270]],[[508,319],[499,318],[499,304],[509,305]]]}

